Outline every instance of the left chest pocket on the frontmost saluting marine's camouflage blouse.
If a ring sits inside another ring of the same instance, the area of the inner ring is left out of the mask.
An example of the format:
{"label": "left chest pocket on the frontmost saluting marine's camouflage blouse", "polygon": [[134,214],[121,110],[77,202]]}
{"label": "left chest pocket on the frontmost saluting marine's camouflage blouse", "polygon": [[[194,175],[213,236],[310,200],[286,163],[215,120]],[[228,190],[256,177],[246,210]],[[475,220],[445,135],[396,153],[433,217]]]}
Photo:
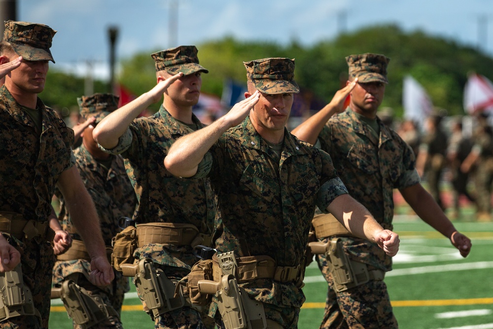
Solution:
{"label": "left chest pocket on the frontmost saluting marine's camouflage blouse", "polygon": [[278,194],[277,184],[270,177],[256,172],[251,166],[247,166],[243,172],[240,186],[246,204],[259,212],[267,212]]}

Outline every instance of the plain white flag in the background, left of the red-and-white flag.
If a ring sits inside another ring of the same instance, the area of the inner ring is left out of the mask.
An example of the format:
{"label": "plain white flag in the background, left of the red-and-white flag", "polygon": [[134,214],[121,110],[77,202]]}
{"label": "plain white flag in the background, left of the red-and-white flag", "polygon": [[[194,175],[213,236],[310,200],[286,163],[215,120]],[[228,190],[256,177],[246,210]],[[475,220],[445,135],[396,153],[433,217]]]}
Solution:
{"label": "plain white flag in the background, left of the red-and-white flag", "polygon": [[426,118],[433,110],[433,104],[426,91],[411,75],[406,75],[403,82],[402,106],[404,118],[418,122],[423,126]]}

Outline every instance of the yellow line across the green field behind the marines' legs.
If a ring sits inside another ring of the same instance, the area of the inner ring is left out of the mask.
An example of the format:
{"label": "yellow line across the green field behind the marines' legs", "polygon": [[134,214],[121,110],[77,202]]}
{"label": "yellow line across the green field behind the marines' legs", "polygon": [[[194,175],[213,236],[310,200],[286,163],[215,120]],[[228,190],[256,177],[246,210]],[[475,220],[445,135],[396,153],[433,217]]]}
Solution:
{"label": "yellow line across the green field behind the marines' legs", "polygon": [[[394,300],[392,307],[493,304],[493,298]],[[305,303],[301,308],[325,308],[325,303]],[[123,311],[142,311],[142,305],[123,305]],[[51,312],[66,312],[64,306],[51,306]]]}

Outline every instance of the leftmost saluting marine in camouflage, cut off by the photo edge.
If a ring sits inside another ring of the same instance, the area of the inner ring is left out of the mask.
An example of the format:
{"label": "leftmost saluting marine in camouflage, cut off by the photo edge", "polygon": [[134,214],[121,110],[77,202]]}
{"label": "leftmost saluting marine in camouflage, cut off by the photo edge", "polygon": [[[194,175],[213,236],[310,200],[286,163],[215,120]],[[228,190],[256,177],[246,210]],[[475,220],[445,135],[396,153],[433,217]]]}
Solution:
{"label": "leftmost saluting marine in camouflage, cut off by the photo edge", "polygon": [[[73,132],[37,97],[44,89],[48,61],[53,61],[49,48],[55,33],[46,25],[8,21],[0,43],[1,70],[18,56],[23,57],[19,71],[11,71],[0,88],[0,270],[10,271],[19,260],[12,246],[21,252],[22,279],[35,307],[34,315],[11,317],[1,321],[0,328],[48,328],[55,256],[47,219],[55,184],[66,194],[73,210],[87,215],[78,216],[76,224],[79,227],[85,220],[82,231],[91,243],[94,273],[104,274],[103,280],[94,282],[105,284],[111,279],[111,265],[101,257],[104,245],[96,229],[94,205],[73,167]],[[26,81],[26,76],[38,79]],[[75,199],[78,204],[74,204]],[[4,263],[7,252],[8,264]]]}

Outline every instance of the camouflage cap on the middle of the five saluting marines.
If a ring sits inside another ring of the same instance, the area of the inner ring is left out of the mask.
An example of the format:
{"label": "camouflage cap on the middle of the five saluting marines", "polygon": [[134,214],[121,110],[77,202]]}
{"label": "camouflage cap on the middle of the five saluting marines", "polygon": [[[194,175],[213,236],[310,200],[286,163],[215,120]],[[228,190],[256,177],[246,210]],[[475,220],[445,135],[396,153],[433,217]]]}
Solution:
{"label": "camouflage cap on the middle of the five saluting marines", "polygon": [[199,65],[197,47],[179,46],[151,54],[154,59],[156,72],[165,70],[170,74],[183,72],[188,75],[197,72],[209,73],[209,70]]}

